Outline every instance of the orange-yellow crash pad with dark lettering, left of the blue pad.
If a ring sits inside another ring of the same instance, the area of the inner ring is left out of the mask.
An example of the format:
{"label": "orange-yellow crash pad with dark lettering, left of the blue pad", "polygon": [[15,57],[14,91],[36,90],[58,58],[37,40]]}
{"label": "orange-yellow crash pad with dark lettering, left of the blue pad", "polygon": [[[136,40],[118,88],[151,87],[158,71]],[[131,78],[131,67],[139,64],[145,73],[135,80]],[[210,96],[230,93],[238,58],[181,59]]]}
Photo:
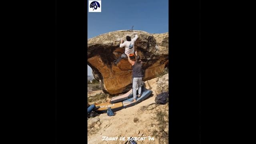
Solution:
{"label": "orange-yellow crash pad with dark lettering, left of the blue pad", "polygon": [[121,110],[123,108],[122,102],[111,104],[109,101],[102,104],[95,104],[95,106],[100,106],[99,109],[95,110],[98,114],[106,113],[108,108],[111,108],[113,112]]}

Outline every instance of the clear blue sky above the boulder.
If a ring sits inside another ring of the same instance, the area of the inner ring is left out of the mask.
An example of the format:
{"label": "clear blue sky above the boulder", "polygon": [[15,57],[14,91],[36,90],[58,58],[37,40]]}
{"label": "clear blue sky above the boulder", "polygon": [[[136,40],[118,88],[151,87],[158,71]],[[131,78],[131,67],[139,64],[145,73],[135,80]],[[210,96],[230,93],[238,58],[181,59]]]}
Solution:
{"label": "clear blue sky above the boulder", "polygon": [[101,0],[101,7],[101,12],[87,12],[88,39],[132,26],[149,33],[168,32],[168,0]]}

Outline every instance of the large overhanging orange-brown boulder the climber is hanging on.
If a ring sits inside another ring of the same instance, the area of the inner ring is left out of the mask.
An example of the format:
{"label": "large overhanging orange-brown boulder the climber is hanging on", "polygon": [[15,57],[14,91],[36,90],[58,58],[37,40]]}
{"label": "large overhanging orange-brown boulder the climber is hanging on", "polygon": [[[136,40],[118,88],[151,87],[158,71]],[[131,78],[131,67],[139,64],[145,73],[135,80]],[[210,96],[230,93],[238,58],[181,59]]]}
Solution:
{"label": "large overhanging orange-brown boulder the climber is hanging on", "polygon": [[134,33],[138,35],[135,50],[144,62],[144,81],[155,78],[168,64],[168,32],[150,34],[137,30],[118,30],[90,38],[87,62],[104,93],[120,94],[132,88],[132,65],[127,59],[115,65],[114,60],[124,53],[124,48],[119,47],[120,39],[126,41],[126,36],[134,38]]}

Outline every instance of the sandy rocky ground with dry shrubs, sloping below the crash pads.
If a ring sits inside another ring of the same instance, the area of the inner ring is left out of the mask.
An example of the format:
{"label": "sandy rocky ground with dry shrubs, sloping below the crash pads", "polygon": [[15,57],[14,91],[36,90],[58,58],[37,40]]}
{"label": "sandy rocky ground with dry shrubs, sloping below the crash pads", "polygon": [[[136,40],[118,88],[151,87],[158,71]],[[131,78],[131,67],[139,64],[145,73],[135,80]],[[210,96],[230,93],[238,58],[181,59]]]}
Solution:
{"label": "sandy rocky ground with dry shrubs, sloping below the crash pads", "polygon": [[[119,110],[114,116],[105,113],[88,119],[88,144],[124,144],[126,141],[119,141],[123,136],[154,137],[153,141],[147,138],[136,141],[138,144],[168,144],[168,103],[158,105],[154,101],[157,94],[168,90],[168,74],[145,83],[153,91],[146,100]],[[102,141],[102,136],[118,137],[118,140]]]}

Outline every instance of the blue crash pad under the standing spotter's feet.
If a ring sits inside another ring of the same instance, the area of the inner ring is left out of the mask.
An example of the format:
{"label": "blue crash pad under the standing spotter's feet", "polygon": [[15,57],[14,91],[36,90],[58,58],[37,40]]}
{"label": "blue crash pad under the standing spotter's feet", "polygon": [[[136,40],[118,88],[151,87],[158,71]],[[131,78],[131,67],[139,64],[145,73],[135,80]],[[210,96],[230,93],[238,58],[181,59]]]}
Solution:
{"label": "blue crash pad under the standing spotter's feet", "polygon": [[140,98],[138,98],[138,94],[137,94],[137,100],[136,102],[132,102],[132,99],[133,98],[129,98],[128,100],[124,100],[122,103],[123,103],[123,106],[124,108],[128,108],[130,106],[134,106],[140,102],[142,102],[143,100],[145,100],[146,98],[148,98],[148,96],[150,96],[150,94],[152,94],[152,90],[148,90],[144,87],[142,87],[142,90],[141,90],[141,96]]}

